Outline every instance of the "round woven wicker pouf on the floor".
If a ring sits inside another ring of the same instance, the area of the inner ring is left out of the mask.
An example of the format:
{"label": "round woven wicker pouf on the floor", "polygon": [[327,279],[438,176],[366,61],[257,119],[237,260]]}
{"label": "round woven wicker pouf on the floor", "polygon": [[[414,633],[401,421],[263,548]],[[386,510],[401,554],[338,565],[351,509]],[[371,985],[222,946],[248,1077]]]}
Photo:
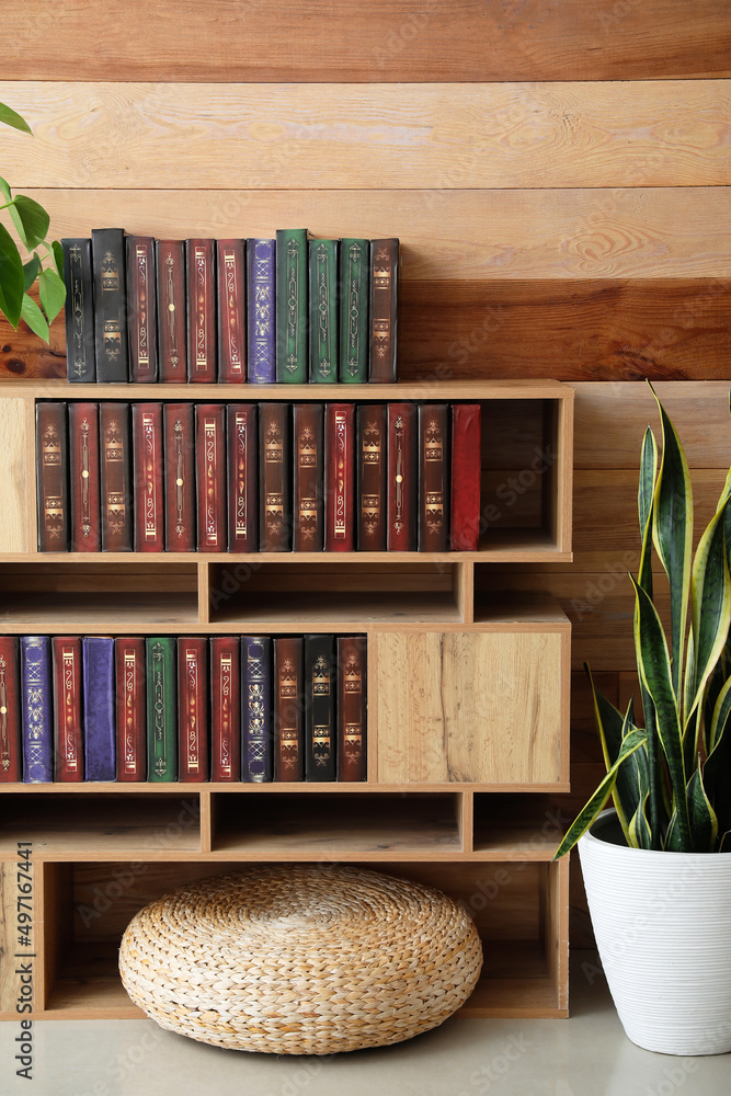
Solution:
{"label": "round woven wicker pouf on the floor", "polygon": [[442,1024],[472,992],[469,915],[431,887],[347,867],[250,868],[133,917],[127,993],[162,1027],[276,1054],[384,1047]]}

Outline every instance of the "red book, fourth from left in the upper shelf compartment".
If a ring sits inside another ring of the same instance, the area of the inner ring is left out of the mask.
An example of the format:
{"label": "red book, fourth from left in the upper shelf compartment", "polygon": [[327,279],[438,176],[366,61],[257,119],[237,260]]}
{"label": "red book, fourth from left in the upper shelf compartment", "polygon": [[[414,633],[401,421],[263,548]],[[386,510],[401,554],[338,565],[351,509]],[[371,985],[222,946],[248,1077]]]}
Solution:
{"label": "red book, fourth from left in the upper shelf compartment", "polygon": [[162,404],[133,403],[135,551],[163,551]]}

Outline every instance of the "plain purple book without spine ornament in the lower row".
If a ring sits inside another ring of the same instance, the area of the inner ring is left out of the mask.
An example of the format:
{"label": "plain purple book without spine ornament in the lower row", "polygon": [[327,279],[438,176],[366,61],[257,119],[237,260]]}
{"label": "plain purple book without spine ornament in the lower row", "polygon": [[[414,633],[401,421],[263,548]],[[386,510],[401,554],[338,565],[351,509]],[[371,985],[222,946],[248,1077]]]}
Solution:
{"label": "plain purple book without spine ornament in the lower row", "polygon": [[84,636],[83,750],[87,780],[116,779],[114,723],[114,640]]}

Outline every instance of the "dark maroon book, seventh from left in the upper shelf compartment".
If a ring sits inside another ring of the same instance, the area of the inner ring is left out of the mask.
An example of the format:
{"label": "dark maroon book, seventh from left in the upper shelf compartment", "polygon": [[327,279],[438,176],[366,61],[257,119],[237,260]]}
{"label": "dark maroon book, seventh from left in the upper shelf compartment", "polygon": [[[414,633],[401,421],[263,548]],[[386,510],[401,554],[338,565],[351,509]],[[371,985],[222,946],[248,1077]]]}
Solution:
{"label": "dark maroon book, seventh from left in the upper shelf compartment", "polygon": [[255,403],[229,403],[228,550],[259,551],[259,431]]}

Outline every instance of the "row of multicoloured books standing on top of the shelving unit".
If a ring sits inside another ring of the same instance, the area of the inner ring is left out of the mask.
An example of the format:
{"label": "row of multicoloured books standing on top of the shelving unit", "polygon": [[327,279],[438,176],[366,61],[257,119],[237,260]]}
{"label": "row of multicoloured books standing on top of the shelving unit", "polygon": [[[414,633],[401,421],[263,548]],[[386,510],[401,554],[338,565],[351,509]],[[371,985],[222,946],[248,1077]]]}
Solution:
{"label": "row of multicoloured books standing on top of the shelving unit", "polygon": [[61,240],[72,381],[390,384],[399,241]]}

